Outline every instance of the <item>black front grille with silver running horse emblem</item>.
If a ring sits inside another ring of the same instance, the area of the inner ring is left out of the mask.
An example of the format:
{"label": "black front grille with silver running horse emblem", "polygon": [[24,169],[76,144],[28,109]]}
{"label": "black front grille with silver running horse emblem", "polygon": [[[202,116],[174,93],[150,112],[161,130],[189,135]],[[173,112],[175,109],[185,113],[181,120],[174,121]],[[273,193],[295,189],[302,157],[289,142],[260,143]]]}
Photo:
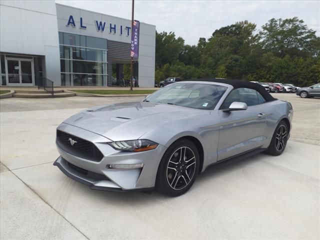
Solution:
{"label": "black front grille with silver running horse emblem", "polygon": [[[70,138],[76,141],[73,146],[70,143]],[[100,150],[92,142],[60,130],[56,130],[56,142],[63,150],[87,160],[100,161],[103,157]]]}

